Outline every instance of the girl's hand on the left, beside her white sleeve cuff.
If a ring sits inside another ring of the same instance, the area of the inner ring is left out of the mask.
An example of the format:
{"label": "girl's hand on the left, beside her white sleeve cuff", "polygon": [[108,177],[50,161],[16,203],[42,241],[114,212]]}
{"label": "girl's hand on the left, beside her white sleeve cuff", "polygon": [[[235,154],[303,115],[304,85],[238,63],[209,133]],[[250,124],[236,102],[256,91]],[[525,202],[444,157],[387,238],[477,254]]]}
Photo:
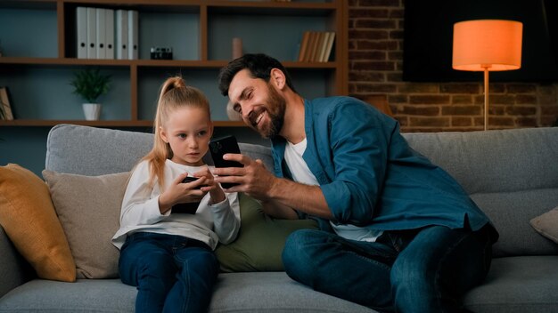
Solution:
{"label": "girl's hand on the left, beside her white sleeve cuff", "polygon": [[183,182],[188,173],[183,173],[168,186],[168,188],[159,196],[160,213],[167,212],[173,205],[185,204],[192,202],[200,202],[205,196],[207,190],[201,190],[199,187],[203,185],[202,180],[193,182]]}

